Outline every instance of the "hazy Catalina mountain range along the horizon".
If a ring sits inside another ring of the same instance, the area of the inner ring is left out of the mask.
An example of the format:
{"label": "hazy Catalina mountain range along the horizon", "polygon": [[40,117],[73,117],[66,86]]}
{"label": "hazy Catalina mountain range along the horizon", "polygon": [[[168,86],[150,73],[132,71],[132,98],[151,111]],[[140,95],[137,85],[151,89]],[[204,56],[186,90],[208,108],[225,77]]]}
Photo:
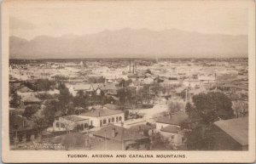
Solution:
{"label": "hazy Catalina mountain range along the horizon", "polygon": [[11,59],[247,57],[248,37],[125,28],[84,36],[9,37]]}

